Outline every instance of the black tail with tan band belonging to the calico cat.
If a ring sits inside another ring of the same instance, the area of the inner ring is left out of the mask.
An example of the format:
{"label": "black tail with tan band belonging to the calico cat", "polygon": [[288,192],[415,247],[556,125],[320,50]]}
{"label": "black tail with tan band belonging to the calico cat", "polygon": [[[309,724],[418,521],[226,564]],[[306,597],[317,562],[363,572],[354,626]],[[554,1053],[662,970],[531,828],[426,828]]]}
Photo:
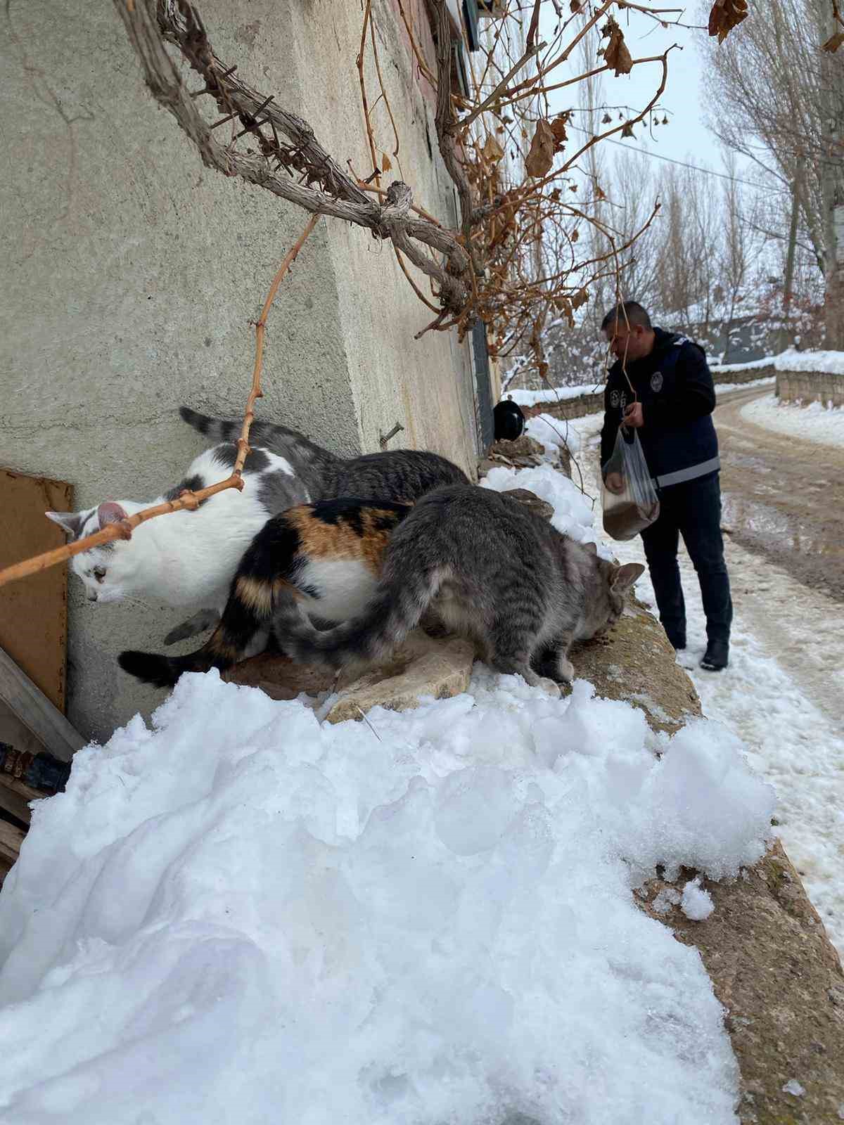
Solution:
{"label": "black tail with tan band belonging to the calico cat", "polygon": [[269,520],[246,548],[219,624],[200,649],[185,656],[126,650],[117,658],[123,670],[156,687],[172,687],[185,672],[225,672],[244,659],[255,636],[269,630],[279,602],[298,596],[288,580],[298,539],[287,515]]}

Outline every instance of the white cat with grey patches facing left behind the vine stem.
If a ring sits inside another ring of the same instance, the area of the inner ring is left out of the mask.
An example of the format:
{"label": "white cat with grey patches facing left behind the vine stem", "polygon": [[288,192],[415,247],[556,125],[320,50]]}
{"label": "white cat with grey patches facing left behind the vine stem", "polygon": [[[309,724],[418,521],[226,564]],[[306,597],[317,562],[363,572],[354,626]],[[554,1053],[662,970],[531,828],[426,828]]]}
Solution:
{"label": "white cat with grey patches facing left behind the vine stem", "polygon": [[[207,449],[188,468],[185,479],[155,500],[105,501],[83,512],[47,512],[72,539],[93,534],[142,508],[174,500],[225,480],[236,447],[225,442]],[[114,539],[71,559],[89,602],[136,597],[168,605],[201,608],[165,638],[173,644],[209,628],[219,619],[228,586],[243,551],[267,520],[311,497],[290,462],[268,449],[253,449],[243,470],[243,490],[230,488],[201,501],[194,511],[172,512],[135,528],[132,539]]]}

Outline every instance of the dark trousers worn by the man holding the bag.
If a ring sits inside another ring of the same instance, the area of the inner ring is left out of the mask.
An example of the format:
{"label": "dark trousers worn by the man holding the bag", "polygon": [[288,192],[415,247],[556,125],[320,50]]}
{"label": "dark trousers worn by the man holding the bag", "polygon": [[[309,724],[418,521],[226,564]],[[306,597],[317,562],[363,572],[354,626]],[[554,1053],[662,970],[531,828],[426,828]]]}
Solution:
{"label": "dark trousers worn by the man holding the bag", "polygon": [[659,516],[641,532],[659,620],[676,647],[685,645],[685,602],[677,566],[679,537],[698,572],[707,638],[729,640],[733,601],[721,539],[721,488],[713,472],[659,493]]}

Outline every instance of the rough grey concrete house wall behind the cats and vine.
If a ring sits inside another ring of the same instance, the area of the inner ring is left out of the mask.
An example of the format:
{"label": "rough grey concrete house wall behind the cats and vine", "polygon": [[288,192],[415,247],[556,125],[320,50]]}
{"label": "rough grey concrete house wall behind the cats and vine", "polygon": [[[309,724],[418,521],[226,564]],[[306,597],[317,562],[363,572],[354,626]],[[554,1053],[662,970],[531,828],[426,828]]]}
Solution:
{"label": "rough grey concrete house wall behind the cats and vine", "polygon": [[[306,116],[341,164],[368,173],[358,4],[204,0],[201,11],[221,57]],[[450,223],[454,192],[425,134],[436,144],[432,110],[390,4],[372,11],[402,142],[394,166]],[[145,90],[110,3],[29,0],[11,6],[3,32],[1,116],[15,159],[0,182],[0,464],[70,480],[79,507],[151,500],[203,447],[178,420],[181,402],[242,413],[250,320],[306,216],[201,166]],[[470,467],[469,349],[454,335],[414,342],[432,316],[389,246],[322,220],[271,313],[260,413],[347,453],[377,449],[379,430],[399,421],[406,432],[392,448]],[[69,717],[82,734],[106,738],[161,701],[115,656],[159,647],[176,620],[162,608],[83,604],[71,579]]]}

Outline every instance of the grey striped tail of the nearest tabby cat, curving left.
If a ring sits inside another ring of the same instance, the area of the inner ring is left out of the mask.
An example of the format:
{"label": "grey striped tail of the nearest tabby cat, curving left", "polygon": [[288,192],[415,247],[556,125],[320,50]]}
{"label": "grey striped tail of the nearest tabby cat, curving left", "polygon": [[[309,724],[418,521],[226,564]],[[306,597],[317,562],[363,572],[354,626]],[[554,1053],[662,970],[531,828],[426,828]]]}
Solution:
{"label": "grey striped tail of the nearest tabby cat, curving left", "polygon": [[352,662],[386,657],[414,629],[440,586],[434,574],[392,576],[389,560],[369,605],[360,616],[333,629],[316,629],[291,600],[279,605],[275,632],[279,647],[303,664],[341,668]]}

